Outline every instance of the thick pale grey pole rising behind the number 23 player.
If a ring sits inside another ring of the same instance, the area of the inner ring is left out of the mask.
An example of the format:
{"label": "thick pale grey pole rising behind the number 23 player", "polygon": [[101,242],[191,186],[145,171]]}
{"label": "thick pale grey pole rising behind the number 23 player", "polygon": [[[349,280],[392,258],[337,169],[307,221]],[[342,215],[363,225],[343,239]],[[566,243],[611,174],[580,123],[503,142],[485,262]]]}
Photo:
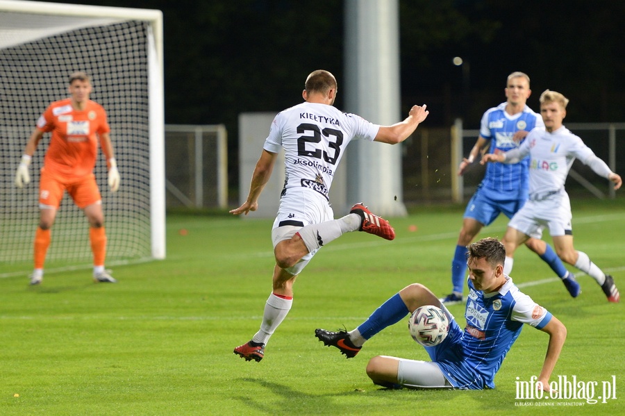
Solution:
{"label": "thick pale grey pole rising behind the number 23 player", "polygon": [[[346,0],[345,108],[375,124],[401,119],[398,0]],[[384,216],[406,215],[401,144],[349,144],[347,203],[365,201]]]}

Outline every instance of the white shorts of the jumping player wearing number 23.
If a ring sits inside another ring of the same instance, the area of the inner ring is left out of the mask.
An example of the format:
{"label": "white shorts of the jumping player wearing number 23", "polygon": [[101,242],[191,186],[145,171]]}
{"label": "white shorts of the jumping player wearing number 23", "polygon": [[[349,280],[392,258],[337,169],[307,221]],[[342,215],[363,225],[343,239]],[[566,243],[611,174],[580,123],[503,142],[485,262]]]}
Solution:
{"label": "white shorts of the jumping player wearing number 23", "polygon": [[[331,219],[334,219],[334,212],[328,200],[321,194],[306,188],[288,188],[280,199],[278,215],[272,227],[274,248],[278,242],[292,238],[299,228]],[[317,251],[319,250],[310,251],[286,271],[293,275],[299,274]]]}

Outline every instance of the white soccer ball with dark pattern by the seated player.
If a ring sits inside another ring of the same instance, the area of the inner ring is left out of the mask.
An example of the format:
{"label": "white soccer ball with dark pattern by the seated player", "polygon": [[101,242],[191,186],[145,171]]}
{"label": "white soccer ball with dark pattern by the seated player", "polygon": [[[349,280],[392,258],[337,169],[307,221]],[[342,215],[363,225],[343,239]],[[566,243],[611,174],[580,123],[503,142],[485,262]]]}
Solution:
{"label": "white soccer ball with dark pattern by the seated player", "polygon": [[419,344],[433,347],[447,338],[449,319],[441,308],[433,305],[422,306],[410,315],[408,331]]}

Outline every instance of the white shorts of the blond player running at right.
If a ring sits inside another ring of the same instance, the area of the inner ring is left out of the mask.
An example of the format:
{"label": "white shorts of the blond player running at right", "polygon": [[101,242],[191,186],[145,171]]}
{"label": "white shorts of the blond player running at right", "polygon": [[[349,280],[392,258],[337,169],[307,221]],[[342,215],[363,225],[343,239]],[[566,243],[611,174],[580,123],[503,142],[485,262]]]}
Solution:
{"label": "white shorts of the blond player running at right", "polygon": [[549,228],[551,237],[572,235],[571,201],[566,192],[560,192],[542,201],[528,200],[508,226],[533,238],[542,238],[542,230]]}

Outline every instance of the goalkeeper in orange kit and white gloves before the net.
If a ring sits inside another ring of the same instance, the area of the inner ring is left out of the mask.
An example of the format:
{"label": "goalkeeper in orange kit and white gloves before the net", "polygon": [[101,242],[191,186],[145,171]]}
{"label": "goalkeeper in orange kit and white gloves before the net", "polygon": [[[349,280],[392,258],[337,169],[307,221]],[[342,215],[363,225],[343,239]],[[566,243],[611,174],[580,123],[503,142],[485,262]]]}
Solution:
{"label": "goalkeeper in orange kit and white gloves before the net", "polygon": [[31,178],[28,165],[44,133],[51,132],[44,157],[39,183],[40,221],[35,233],[35,270],[31,285],[43,279],[44,262],[51,242],[51,228],[65,191],[81,208],[89,222],[89,238],[93,251],[93,278],[97,282],[115,283],[115,278],[104,269],[106,231],[98,185],[93,174],[98,141],[106,156],[108,185],[115,192],[119,188],[119,172],[106,111],[89,99],[92,91],[90,77],[84,72],[69,76],[67,99],[54,101],[44,111],[28,139],[24,156],[17,167],[15,185],[22,188]]}

